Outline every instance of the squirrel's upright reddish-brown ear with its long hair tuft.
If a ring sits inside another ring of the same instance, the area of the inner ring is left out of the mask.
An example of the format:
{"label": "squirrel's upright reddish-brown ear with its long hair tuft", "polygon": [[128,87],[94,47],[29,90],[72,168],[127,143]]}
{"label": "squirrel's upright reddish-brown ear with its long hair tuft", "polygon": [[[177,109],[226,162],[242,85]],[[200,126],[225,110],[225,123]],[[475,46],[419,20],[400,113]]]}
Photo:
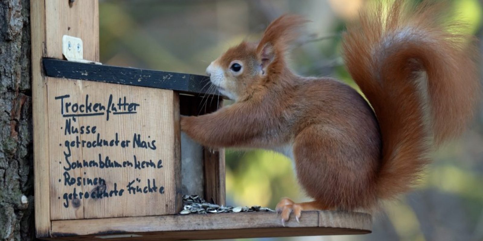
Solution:
{"label": "squirrel's upright reddish-brown ear with its long hair tuft", "polygon": [[256,53],[262,60],[262,67],[269,65],[277,57],[283,57],[307,22],[309,21],[304,17],[292,14],[284,14],[271,22],[256,48]]}

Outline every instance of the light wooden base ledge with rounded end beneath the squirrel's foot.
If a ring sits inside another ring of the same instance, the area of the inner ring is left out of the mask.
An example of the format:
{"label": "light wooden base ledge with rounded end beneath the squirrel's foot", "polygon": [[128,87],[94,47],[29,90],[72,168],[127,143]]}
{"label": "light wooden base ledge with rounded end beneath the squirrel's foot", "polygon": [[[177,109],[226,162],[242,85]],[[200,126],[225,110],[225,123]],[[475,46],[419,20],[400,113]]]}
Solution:
{"label": "light wooden base ledge with rounded end beneath the squirrel's foot", "polygon": [[[372,218],[370,214],[356,212],[304,211],[299,223],[291,218],[285,222],[285,226],[274,212],[173,214],[52,221],[52,237],[258,229],[264,229],[260,230],[261,232],[282,233],[289,230],[290,232],[285,233],[287,236],[301,236],[297,234],[297,229],[310,230],[311,235],[366,234],[372,231]],[[235,233],[239,232],[234,232],[233,237],[241,237]]]}

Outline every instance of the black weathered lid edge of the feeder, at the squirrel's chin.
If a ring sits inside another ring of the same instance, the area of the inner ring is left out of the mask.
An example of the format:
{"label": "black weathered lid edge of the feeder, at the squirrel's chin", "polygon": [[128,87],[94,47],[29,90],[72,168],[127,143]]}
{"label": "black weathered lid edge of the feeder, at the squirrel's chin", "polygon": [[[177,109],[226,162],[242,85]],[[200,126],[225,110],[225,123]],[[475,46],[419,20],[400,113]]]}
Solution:
{"label": "black weathered lid edge of the feeder, at the squirrel's chin", "polygon": [[[49,77],[169,89],[189,94],[208,94],[207,91],[212,86],[209,78],[202,75],[84,64],[49,58],[43,58],[43,68]],[[215,91],[210,94],[219,93]]]}

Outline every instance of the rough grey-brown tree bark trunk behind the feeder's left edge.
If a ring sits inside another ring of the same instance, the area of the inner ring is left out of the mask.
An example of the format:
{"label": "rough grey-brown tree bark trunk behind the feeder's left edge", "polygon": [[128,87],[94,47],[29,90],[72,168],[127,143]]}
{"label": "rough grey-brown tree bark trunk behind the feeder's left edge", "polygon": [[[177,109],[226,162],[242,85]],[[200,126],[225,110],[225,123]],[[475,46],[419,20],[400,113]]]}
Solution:
{"label": "rough grey-brown tree bark trunk behind the feeder's left edge", "polygon": [[29,0],[0,1],[0,240],[35,238]]}

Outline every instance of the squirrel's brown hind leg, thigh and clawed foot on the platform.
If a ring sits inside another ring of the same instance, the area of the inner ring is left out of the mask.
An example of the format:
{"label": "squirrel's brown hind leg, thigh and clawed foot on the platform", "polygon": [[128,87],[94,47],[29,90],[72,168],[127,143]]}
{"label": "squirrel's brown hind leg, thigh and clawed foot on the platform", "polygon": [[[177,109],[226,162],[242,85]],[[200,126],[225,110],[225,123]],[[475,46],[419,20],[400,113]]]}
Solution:
{"label": "squirrel's brown hind leg, thigh and clawed foot on the platform", "polygon": [[312,125],[294,140],[297,178],[314,201],[283,199],[277,208],[286,221],[293,210],[351,211],[375,202],[373,192],[379,149],[338,126]]}

